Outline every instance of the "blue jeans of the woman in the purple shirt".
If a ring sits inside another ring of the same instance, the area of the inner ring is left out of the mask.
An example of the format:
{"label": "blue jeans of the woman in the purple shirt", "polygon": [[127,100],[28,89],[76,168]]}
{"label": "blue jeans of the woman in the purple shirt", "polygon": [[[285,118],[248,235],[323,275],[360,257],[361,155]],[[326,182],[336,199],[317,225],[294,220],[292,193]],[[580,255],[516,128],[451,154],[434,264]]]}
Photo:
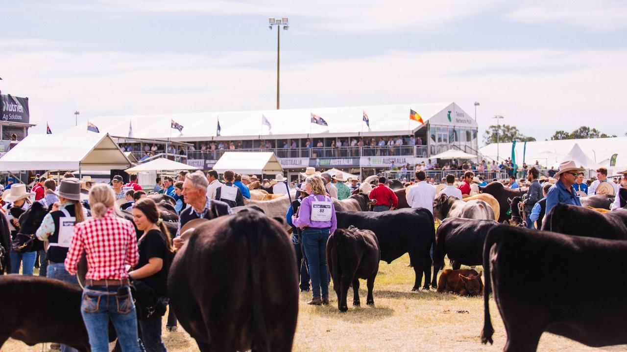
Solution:
{"label": "blue jeans of the woman in the purple shirt", "polygon": [[302,232],[303,250],[309,262],[314,298],[329,296],[329,269],[327,269],[327,240],[329,227],[317,229],[305,227]]}

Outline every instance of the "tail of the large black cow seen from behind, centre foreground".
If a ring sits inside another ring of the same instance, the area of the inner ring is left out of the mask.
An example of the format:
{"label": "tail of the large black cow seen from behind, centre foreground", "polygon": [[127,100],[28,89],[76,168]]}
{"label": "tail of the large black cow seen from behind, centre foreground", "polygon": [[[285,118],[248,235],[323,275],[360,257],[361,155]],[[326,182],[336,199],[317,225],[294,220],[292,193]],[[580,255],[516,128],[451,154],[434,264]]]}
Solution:
{"label": "tail of the large black cow seen from behind, centre foreground", "polygon": [[[264,217],[265,218],[265,217]],[[267,352],[268,347],[268,331],[266,330],[265,319],[263,318],[263,299],[261,297],[261,246],[263,241],[263,232],[270,226],[269,220],[265,220],[265,224],[260,226],[260,222],[253,224],[251,221],[246,226],[248,229],[243,232],[248,236],[248,255],[250,263],[250,275],[253,280],[253,333],[255,339],[253,350]],[[254,229],[255,230],[251,230]],[[256,347],[256,348],[255,348]]]}

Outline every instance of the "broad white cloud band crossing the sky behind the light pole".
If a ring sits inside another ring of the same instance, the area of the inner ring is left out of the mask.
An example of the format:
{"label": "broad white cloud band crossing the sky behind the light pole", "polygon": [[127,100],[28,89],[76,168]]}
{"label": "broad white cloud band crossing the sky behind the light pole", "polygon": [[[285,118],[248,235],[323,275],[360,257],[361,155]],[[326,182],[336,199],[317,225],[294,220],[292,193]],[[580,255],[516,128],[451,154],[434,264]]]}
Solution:
{"label": "broad white cloud band crossing the sky behind the light pole", "polygon": [[[286,54],[290,54],[286,51]],[[179,53],[6,51],[4,93],[28,96],[31,120],[53,131],[90,116],[271,109],[273,51]],[[293,56],[296,56],[292,53]],[[589,125],[623,135],[627,50],[390,51],[284,61],[282,108],[455,101],[480,130],[503,115],[525,135]],[[623,130],[617,130],[623,128]]]}

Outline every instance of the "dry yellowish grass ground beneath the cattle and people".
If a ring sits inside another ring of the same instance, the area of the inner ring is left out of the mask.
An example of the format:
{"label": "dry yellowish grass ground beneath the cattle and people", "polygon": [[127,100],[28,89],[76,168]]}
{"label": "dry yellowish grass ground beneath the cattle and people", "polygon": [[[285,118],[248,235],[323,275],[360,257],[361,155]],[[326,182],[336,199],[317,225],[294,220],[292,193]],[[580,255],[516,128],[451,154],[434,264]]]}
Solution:
{"label": "dry yellowish grass ground beneath the cattle and people", "polygon": [[[311,294],[303,292],[300,295],[293,350],[502,351],[506,339],[505,329],[493,301],[490,313],[495,329],[495,343],[493,346],[485,346],[479,339],[483,327],[483,298],[462,298],[438,294],[434,290],[411,292],[414,274],[413,269],[405,266],[408,262],[408,256],[389,265],[381,262],[374,284],[374,307],[366,306],[366,291],[363,290],[360,297],[364,306],[361,308],[352,307],[352,291],[349,291],[349,311],[346,313],[337,310],[335,292],[330,292],[330,306],[308,306],[305,302],[311,298]],[[365,282],[362,282],[361,287],[365,286]],[[164,329],[163,338],[168,351],[198,351],[194,340],[182,329],[176,333]],[[544,333],[538,351],[626,349],[627,346],[589,348],[561,336]],[[3,352],[41,350],[41,344],[29,347],[14,340],[9,340],[2,349]]]}

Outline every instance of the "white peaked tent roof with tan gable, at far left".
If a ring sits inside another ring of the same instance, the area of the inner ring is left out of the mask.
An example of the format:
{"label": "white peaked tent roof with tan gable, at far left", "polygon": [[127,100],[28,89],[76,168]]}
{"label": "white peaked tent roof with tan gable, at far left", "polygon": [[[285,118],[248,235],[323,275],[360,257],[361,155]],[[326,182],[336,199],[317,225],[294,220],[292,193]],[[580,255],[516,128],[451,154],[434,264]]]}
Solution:
{"label": "white peaked tent roof with tan gable, at far left", "polygon": [[132,164],[108,133],[28,135],[4,157],[0,170],[111,170]]}

